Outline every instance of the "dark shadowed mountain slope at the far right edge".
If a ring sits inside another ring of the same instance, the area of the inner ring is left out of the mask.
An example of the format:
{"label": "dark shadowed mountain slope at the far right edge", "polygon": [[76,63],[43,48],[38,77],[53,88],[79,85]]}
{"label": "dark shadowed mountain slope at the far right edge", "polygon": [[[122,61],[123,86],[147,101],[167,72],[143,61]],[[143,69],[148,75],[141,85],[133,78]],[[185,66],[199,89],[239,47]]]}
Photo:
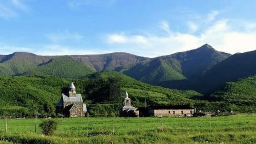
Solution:
{"label": "dark shadowed mountain slope at the far right edge", "polygon": [[[202,76],[204,91],[212,91],[228,81],[256,74],[256,51],[234,54]],[[203,92],[203,91],[202,91]]]}

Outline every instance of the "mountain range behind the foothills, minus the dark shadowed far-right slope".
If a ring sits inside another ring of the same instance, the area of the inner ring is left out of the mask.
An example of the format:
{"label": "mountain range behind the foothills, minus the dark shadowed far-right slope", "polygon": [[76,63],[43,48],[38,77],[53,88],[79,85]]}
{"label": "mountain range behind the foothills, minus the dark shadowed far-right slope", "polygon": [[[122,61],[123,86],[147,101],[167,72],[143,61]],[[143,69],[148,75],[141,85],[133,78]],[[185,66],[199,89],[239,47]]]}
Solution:
{"label": "mountain range behind the foothills, minus the dark shadowed far-right slope", "polygon": [[[145,58],[128,53],[100,55],[40,56],[17,52],[0,57],[0,75],[46,74],[79,78],[96,71],[119,71],[134,79],[172,89],[187,86],[230,54],[218,52],[208,44],[187,52]],[[197,86],[197,85],[196,85]]]}

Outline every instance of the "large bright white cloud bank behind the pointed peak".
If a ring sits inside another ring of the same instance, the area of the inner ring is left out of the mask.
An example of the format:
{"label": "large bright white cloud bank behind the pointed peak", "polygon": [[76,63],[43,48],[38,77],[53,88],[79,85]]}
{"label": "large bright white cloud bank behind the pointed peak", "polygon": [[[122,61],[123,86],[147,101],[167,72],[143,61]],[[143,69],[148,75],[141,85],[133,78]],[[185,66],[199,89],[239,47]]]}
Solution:
{"label": "large bright white cloud bank behind the pointed peak", "polygon": [[[168,28],[168,23],[161,23],[160,27]],[[245,26],[246,27],[246,26]],[[228,20],[214,21],[199,35],[174,32],[162,36],[160,34],[107,34],[110,47],[124,52],[134,53],[146,57],[157,57],[185,50],[195,49],[205,43],[216,50],[231,54],[256,49],[256,30],[241,32],[232,29]],[[168,29],[166,29],[168,30]]]}

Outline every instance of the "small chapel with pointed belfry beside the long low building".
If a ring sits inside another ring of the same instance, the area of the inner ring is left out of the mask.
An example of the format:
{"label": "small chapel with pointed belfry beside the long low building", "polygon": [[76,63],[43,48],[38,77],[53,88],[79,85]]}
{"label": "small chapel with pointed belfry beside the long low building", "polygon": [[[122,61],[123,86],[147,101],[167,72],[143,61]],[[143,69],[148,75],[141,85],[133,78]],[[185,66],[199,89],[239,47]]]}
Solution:
{"label": "small chapel with pointed belfry beside the long low building", "polygon": [[124,93],[123,106],[119,108],[119,116],[121,117],[139,117],[138,108],[131,105],[131,99],[127,91]]}

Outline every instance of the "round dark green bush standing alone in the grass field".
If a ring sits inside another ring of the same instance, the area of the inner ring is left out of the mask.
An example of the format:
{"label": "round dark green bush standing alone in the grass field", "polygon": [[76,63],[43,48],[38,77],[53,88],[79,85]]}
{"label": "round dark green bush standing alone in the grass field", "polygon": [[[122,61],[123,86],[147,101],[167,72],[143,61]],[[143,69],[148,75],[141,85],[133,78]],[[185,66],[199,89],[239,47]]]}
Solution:
{"label": "round dark green bush standing alone in the grass field", "polygon": [[57,122],[52,119],[47,119],[39,124],[39,127],[42,128],[44,135],[52,135],[57,129]]}

